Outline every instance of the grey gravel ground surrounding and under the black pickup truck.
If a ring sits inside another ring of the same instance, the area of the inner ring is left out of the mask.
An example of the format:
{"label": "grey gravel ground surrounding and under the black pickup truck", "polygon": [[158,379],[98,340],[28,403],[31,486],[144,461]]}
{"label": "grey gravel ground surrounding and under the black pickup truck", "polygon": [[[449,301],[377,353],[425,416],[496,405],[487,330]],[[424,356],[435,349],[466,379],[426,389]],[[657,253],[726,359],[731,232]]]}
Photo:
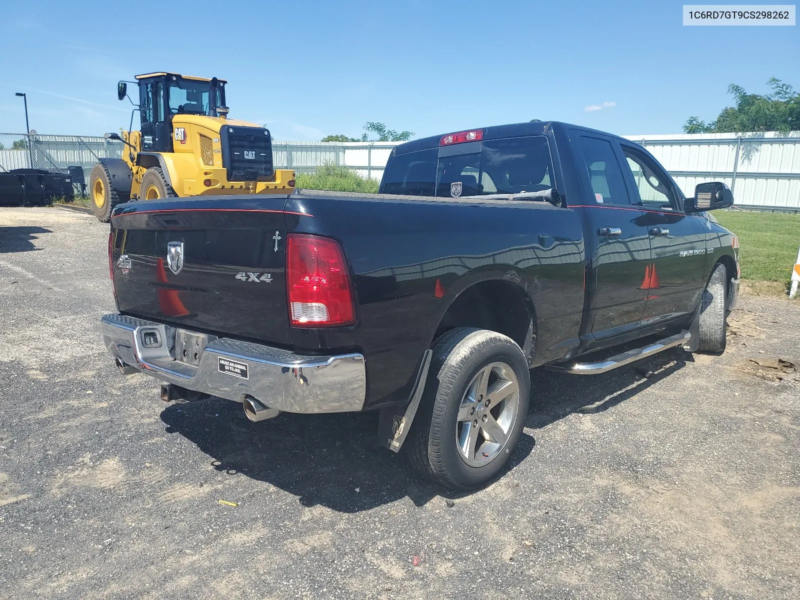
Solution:
{"label": "grey gravel ground surrounding and under the black pickup truck", "polygon": [[0,598],[800,595],[800,374],[767,362],[800,365],[797,302],[743,296],[719,357],[534,371],[509,472],[454,495],[374,414],[250,423],[118,374],[107,230],[0,209]]}

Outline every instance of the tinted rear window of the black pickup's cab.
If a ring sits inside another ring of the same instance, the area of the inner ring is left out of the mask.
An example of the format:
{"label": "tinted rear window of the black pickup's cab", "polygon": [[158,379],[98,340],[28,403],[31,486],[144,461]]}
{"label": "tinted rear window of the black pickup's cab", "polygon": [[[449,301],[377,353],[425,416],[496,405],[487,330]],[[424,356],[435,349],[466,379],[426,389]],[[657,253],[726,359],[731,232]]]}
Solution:
{"label": "tinted rear window of the black pickup's cab", "polygon": [[[384,194],[479,196],[549,190],[553,163],[542,135],[484,140],[481,143],[418,150],[391,159]],[[459,185],[460,184],[460,185]]]}

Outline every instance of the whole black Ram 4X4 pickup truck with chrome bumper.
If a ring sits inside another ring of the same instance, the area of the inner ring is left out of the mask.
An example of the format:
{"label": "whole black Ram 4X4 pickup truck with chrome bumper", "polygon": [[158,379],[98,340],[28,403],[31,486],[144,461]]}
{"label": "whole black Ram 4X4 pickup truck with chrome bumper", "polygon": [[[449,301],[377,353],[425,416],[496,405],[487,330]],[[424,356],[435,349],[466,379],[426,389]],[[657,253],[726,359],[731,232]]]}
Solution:
{"label": "whole black Ram 4X4 pickup truck with chrome bumper", "polygon": [[419,139],[379,194],[118,206],[102,330],[165,400],[227,398],[251,421],[380,410],[384,445],[468,489],[514,450],[530,369],[724,350],[738,240],[709,211],[732,202],[720,182],[685,198],[641,146],[566,123]]}

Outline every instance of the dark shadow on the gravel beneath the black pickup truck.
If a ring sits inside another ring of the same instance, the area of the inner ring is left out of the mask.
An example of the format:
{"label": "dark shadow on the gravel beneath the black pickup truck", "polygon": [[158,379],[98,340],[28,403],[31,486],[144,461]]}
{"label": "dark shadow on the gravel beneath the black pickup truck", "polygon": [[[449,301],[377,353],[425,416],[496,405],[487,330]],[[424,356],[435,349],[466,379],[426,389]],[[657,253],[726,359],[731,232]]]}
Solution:
{"label": "dark shadow on the gravel beneath the black pickup truck", "polygon": [[[576,410],[609,410],[674,374],[686,357],[690,354],[666,352],[640,366],[592,377],[534,370],[534,402],[526,426],[541,429]],[[436,496],[466,495],[428,482],[402,452],[379,447],[377,413],[285,413],[251,423],[239,404],[211,398],[168,406],[161,418],[167,433],[196,444],[217,470],[268,482],[297,496],[303,506],[353,513],[406,496],[422,506]],[[527,458],[534,445],[534,438],[523,432],[508,470]]]}

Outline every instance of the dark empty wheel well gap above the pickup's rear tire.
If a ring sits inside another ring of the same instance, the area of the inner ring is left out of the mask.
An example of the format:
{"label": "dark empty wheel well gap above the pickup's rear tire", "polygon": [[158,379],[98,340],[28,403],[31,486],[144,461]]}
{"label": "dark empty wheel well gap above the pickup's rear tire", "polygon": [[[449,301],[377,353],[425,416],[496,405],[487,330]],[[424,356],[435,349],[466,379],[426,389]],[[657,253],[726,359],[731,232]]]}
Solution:
{"label": "dark empty wheel well gap above the pickup's rear tire", "polygon": [[529,362],[534,354],[534,308],[522,288],[514,283],[480,282],[458,294],[439,322],[434,339],[456,327],[497,331],[517,342]]}

